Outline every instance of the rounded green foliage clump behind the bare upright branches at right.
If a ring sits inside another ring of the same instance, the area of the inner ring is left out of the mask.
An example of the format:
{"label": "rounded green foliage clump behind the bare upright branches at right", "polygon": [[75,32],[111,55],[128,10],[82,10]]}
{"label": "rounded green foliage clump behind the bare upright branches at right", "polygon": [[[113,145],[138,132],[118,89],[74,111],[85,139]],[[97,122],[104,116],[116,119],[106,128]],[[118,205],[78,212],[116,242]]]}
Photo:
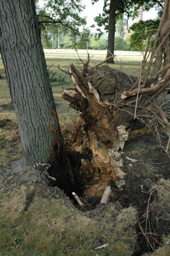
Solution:
{"label": "rounded green foliage clump behind the bare upright branches at right", "polygon": [[[156,30],[159,26],[160,19],[149,19],[149,20],[140,20],[136,23],[134,23],[130,29],[133,31],[133,33],[130,35],[129,40],[129,49],[131,51],[143,51],[145,50],[147,46],[147,39],[148,34],[151,33],[152,38],[151,42],[154,41],[154,34],[156,33]],[[149,31],[149,32],[147,32]],[[152,46],[151,43],[151,46]]]}

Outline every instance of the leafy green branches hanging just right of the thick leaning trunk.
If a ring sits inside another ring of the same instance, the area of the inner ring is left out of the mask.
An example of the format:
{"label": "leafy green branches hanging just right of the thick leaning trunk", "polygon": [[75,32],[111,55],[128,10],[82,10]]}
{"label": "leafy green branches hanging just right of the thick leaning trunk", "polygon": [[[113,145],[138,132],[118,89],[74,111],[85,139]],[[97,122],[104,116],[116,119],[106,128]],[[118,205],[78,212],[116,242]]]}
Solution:
{"label": "leafy green branches hanging just right of the thick leaning trunk", "polygon": [[81,0],[45,0],[43,6],[37,4],[37,13],[45,34],[53,31],[58,36],[62,27],[64,34],[71,32],[74,36],[80,34],[79,27],[86,25],[86,19],[80,17],[84,6]]}

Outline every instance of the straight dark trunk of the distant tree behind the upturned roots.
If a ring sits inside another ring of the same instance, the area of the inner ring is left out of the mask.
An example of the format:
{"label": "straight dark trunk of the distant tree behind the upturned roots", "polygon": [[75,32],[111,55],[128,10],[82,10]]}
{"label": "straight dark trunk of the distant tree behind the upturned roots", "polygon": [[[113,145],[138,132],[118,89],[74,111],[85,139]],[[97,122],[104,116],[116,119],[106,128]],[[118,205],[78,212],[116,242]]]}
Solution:
{"label": "straight dark trunk of the distant tree behind the upturned roots", "polygon": [[[116,10],[119,6],[120,0],[111,0],[110,2],[110,13],[109,13],[109,19],[108,19],[108,51],[107,51],[107,57],[110,57],[112,54],[114,54],[114,48],[115,48],[115,26],[116,26]],[[107,61],[107,63],[114,63],[114,59],[110,59]]]}

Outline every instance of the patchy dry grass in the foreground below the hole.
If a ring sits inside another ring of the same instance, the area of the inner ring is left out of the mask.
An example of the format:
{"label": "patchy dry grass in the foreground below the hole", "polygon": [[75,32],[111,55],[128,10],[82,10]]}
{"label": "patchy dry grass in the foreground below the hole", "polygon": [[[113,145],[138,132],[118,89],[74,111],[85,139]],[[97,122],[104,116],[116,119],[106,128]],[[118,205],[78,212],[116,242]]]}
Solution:
{"label": "patchy dry grass in the foreground below the hole", "polygon": [[[1,188],[1,255],[131,255],[136,243],[135,208],[118,213],[112,205],[102,218],[98,214],[97,222],[68,205],[68,199],[38,194],[23,212],[26,195],[33,189],[22,186],[5,192]],[[96,240],[109,245],[94,250]]]}

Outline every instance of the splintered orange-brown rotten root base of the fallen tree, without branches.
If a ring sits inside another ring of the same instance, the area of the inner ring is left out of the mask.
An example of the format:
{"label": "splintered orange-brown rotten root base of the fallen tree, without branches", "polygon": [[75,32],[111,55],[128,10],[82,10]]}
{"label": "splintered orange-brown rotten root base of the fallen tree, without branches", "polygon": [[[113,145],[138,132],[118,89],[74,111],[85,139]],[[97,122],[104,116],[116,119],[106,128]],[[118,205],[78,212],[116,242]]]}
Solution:
{"label": "splintered orange-brown rotten root base of the fallen tree, without branches", "polygon": [[[119,85],[122,81],[111,78],[112,70],[108,66],[99,67],[97,70],[92,69],[87,78],[71,64],[71,80],[76,89],[65,89],[63,98],[80,113],[81,121],[73,146],[74,150],[82,154],[91,150],[92,166],[105,176],[105,182],[111,179],[121,187],[124,184],[125,173],[120,169],[123,163],[118,150],[123,149],[128,139],[129,120],[133,119],[133,116],[114,108],[114,101],[119,97],[119,91],[122,92]],[[123,75],[126,87],[130,89],[132,82],[129,77],[114,71],[119,78]],[[135,81],[137,78],[131,79]],[[106,88],[106,94],[104,88]],[[102,90],[103,94],[101,94]]]}

